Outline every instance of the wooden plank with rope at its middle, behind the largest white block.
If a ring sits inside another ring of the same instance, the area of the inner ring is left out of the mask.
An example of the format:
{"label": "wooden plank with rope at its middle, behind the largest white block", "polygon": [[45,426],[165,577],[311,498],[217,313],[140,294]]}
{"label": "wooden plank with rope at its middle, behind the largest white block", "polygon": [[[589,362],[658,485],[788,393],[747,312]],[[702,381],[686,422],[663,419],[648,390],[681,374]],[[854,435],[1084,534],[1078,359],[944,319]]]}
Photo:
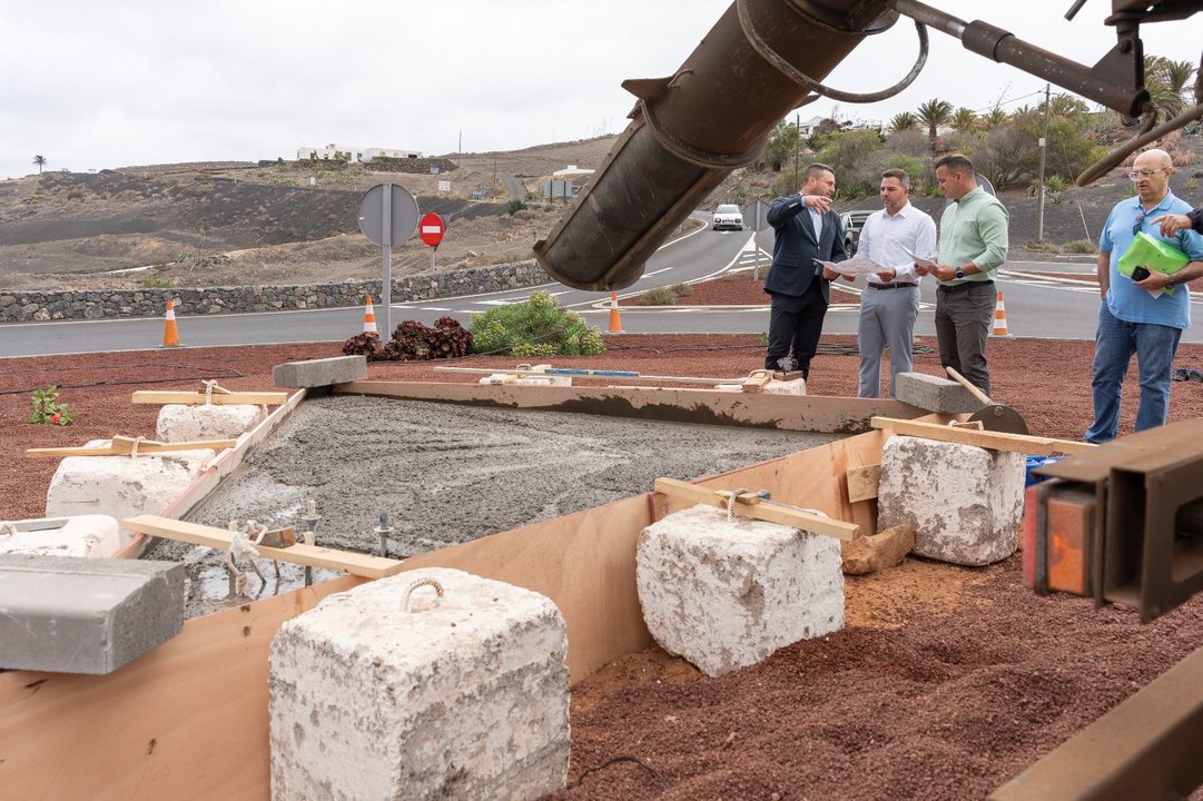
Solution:
{"label": "wooden plank with rope at its middle, behind the largest white block", "polygon": [[[138,515],[126,517],[122,521],[122,528],[148,536],[162,536],[168,540],[190,542],[192,545],[206,545],[221,551],[230,550],[233,534],[224,528],[213,526],[201,526],[200,523],[188,523],[170,517],[158,515]],[[401,559],[371,556],[367,553],[355,553],[354,551],[339,551],[320,545],[306,545],[297,542],[286,548],[273,548],[267,545],[255,546],[260,556],[275,562],[288,562],[289,564],[303,564],[310,568],[325,568],[349,572],[352,576],[365,578],[384,578],[401,572]]]}

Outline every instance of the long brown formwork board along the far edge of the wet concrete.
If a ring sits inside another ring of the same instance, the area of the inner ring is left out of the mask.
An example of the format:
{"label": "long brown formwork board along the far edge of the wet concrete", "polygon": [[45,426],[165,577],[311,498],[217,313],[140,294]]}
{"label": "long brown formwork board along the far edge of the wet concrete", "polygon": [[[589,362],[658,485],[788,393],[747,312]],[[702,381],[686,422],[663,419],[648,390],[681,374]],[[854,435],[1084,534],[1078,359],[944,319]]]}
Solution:
{"label": "long brown formwork board along the far edge of the wet concrete", "polygon": [[[504,372],[504,370],[500,370]],[[826,398],[768,392],[675,387],[490,386],[409,381],[350,381],[334,392],[411,400],[470,403],[498,409],[576,411],[642,420],[855,434],[873,416],[911,419],[928,413],[888,398]]]}

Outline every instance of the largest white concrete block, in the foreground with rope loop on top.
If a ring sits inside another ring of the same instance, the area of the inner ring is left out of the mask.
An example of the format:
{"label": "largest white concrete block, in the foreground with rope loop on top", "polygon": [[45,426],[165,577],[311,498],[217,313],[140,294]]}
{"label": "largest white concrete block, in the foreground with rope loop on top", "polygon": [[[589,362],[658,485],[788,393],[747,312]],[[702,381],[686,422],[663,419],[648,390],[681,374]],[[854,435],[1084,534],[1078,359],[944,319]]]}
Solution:
{"label": "largest white concrete block, in the foreground with rope loop on top", "polygon": [[[414,591],[419,578],[431,587]],[[326,598],[272,642],[272,797],[534,799],[568,779],[568,637],[538,593],[423,569]]]}

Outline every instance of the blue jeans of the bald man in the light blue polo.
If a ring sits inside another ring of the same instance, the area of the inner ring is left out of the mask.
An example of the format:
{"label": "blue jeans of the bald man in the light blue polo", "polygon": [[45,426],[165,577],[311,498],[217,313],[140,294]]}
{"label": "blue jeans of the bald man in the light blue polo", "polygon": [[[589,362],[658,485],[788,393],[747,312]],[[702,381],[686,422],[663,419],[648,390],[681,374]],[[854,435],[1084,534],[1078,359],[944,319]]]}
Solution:
{"label": "blue jeans of the bald man in the light blue polo", "polygon": [[1088,443],[1106,443],[1119,434],[1120,391],[1124,388],[1124,375],[1132,354],[1136,354],[1140,380],[1136,431],[1166,425],[1169,414],[1171,368],[1181,336],[1181,328],[1173,326],[1125,322],[1110,313],[1106,302],[1101,304],[1091,381],[1095,422],[1086,429]]}

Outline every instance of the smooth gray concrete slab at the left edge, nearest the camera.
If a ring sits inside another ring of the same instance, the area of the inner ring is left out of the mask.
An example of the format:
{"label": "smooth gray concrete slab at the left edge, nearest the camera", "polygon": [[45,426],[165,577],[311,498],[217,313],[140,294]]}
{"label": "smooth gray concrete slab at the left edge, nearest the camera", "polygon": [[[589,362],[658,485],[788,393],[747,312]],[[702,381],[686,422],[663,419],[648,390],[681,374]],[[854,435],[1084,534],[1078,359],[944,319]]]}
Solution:
{"label": "smooth gray concrete slab at the left edge, nearest the camera", "polygon": [[0,556],[0,668],[109,674],[179,633],[184,565]]}

